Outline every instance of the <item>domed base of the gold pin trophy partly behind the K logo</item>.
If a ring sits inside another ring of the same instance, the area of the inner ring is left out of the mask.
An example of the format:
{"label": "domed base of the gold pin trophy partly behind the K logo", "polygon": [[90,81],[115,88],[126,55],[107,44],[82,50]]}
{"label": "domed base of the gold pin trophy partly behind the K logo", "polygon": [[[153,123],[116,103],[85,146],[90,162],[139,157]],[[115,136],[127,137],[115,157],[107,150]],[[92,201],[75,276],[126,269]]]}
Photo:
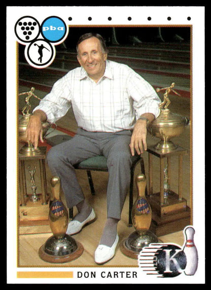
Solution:
{"label": "domed base of the gold pin trophy partly behind the K logo", "polygon": [[135,231],[122,242],[120,250],[131,259],[137,259],[139,252],[151,243],[161,243],[161,241],[150,231]]}

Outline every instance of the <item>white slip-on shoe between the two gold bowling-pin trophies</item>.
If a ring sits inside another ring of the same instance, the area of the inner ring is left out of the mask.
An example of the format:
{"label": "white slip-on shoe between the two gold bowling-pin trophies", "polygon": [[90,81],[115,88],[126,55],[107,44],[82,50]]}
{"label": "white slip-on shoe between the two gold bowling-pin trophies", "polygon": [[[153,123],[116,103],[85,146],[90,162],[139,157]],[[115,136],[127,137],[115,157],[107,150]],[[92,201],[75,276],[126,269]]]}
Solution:
{"label": "white slip-on shoe between the two gold bowling-pin trophies", "polygon": [[94,253],[94,260],[97,264],[104,264],[111,260],[115,255],[115,250],[119,241],[119,236],[116,236],[114,244],[111,247],[98,245]]}

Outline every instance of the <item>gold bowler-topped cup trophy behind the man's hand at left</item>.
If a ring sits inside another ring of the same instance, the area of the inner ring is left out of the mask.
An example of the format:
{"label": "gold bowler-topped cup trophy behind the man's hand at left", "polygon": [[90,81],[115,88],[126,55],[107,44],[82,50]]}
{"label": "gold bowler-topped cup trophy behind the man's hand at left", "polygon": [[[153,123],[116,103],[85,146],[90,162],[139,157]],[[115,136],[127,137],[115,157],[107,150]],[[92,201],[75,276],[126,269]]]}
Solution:
{"label": "gold bowler-topped cup trophy behind the man's hand at left", "polygon": [[[31,104],[29,103],[29,99],[31,98],[31,96],[34,96],[34,98],[41,100],[36,94],[34,94],[34,87],[31,87],[30,91],[26,91],[26,92],[22,92],[19,93],[20,95],[26,95],[25,98],[25,106],[22,109],[22,117],[19,120],[19,142],[23,142],[26,143],[21,149],[20,149],[20,153],[24,156],[35,156],[35,155],[39,155],[40,154],[40,150],[38,149],[34,149],[33,145],[31,144],[31,142],[29,142],[27,140],[27,137],[25,136],[26,133],[26,128],[30,119],[31,114],[29,113],[29,110],[31,109]],[[51,125],[49,124],[49,122],[43,122],[42,123],[42,128],[43,128],[43,136],[46,135],[48,129],[51,127]]]}

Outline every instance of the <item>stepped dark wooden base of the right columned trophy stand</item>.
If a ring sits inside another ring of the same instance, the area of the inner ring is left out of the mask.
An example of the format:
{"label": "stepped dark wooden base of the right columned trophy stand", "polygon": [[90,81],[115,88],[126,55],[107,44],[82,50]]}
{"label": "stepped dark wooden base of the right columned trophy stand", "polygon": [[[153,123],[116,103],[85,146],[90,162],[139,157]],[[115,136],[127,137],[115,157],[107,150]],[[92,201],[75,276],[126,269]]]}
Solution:
{"label": "stepped dark wooden base of the right columned trophy stand", "polygon": [[147,197],[152,208],[150,231],[156,236],[164,236],[183,230],[191,223],[191,210],[184,198],[178,199],[175,192],[170,191],[168,204],[160,204],[160,193]]}

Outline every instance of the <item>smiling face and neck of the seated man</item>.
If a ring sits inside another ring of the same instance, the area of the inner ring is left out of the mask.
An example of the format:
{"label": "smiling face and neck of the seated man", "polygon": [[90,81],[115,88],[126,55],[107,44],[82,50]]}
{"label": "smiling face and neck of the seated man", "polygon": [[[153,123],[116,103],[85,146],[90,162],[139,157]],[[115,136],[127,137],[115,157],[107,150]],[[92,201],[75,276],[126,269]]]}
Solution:
{"label": "smiling face and neck of the seated man", "polygon": [[91,37],[78,45],[78,61],[88,73],[89,77],[97,82],[104,74],[107,53],[103,53],[100,41]]}

